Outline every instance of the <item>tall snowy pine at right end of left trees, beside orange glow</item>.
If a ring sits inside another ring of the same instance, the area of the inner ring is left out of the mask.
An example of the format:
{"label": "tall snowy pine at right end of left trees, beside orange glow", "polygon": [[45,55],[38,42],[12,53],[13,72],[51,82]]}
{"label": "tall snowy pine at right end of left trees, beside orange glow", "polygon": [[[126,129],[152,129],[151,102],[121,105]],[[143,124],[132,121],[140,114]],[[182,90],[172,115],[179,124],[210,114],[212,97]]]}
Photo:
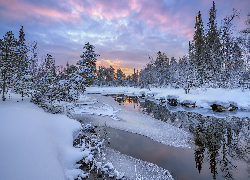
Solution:
{"label": "tall snowy pine at right end of left trees, beside orange glow", "polygon": [[90,45],[89,42],[85,44],[83,49],[86,49],[83,52],[83,55],[80,57],[81,60],[77,61],[76,65],[80,66],[80,69],[78,70],[78,73],[85,78],[84,84],[86,86],[90,86],[93,84],[95,78],[96,78],[96,57],[99,56],[99,54],[96,54],[94,51],[94,46]]}

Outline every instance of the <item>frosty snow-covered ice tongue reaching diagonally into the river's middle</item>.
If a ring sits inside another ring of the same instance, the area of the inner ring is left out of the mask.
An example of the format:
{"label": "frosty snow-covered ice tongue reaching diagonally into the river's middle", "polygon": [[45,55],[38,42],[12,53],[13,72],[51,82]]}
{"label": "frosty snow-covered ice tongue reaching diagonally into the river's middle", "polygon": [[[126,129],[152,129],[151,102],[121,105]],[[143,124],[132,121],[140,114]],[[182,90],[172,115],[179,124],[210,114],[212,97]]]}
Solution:
{"label": "frosty snow-covered ice tongue reaching diagonally into the river's middle", "polygon": [[140,112],[119,106],[111,97],[100,94],[88,94],[87,96],[92,98],[93,101],[95,98],[98,99],[98,102],[91,106],[74,108],[73,117],[82,121],[82,123],[108,126],[141,134],[166,145],[190,148],[191,135],[188,132]]}

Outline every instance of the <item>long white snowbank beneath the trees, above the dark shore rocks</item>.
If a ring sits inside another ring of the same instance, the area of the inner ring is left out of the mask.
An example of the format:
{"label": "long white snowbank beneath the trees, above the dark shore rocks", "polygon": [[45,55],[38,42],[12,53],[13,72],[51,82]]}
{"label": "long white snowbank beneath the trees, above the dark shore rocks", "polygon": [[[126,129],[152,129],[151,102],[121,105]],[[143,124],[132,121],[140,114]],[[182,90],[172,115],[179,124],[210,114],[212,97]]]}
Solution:
{"label": "long white snowbank beneath the trees, above the dark shore rocks", "polygon": [[229,106],[233,104],[240,110],[250,110],[250,89],[242,92],[240,89],[212,89],[206,91],[201,89],[190,90],[189,94],[185,94],[183,89],[173,88],[151,88],[140,89],[133,87],[88,87],[86,93],[101,93],[101,94],[134,94],[146,95],[155,99],[167,99],[169,96],[177,98],[182,103],[187,100],[194,102],[196,107],[209,108],[212,104]]}

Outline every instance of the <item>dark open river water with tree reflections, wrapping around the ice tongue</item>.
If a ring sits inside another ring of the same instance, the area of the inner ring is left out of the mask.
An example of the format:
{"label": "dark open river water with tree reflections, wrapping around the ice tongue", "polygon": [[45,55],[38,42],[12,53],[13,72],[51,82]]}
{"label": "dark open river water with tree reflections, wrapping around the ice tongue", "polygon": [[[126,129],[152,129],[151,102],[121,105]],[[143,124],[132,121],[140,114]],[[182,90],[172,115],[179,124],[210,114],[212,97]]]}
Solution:
{"label": "dark open river water with tree reflections, wrapping around the ice tongue", "polygon": [[106,128],[111,148],[168,169],[180,180],[250,179],[249,117],[216,118],[172,112],[167,106],[146,99],[140,101],[137,96],[113,95],[113,98],[120,105],[190,132],[195,148],[170,147],[141,135]]}

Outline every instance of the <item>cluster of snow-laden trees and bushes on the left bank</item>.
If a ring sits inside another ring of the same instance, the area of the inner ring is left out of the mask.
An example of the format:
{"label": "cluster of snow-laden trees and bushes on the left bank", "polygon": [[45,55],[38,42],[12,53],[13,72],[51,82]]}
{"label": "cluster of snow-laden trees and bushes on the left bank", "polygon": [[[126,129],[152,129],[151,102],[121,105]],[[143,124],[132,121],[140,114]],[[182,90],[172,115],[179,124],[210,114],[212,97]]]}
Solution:
{"label": "cluster of snow-laden trees and bushes on the left bank", "polygon": [[[55,102],[76,101],[85,87],[96,79],[94,46],[86,43],[81,60],[76,65],[56,66],[55,58],[47,54],[38,62],[37,42],[27,44],[23,26],[19,39],[12,31],[0,39],[0,93],[2,101],[9,91],[31,97],[31,101],[45,109]],[[53,109],[53,108],[52,108]]]}

